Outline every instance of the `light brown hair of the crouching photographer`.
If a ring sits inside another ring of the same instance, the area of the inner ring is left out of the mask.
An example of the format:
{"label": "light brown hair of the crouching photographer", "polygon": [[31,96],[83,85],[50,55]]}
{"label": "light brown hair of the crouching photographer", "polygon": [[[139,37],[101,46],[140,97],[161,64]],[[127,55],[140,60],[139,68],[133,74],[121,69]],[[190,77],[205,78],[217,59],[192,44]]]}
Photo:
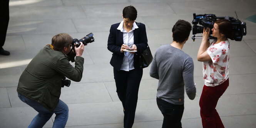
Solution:
{"label": "light brown hair of the crouching photographer", "polygon": [[68,47],[73,41],[73,38],[67,33],[60,33],[52,37],[52,46],[58,50],[63,50]]}

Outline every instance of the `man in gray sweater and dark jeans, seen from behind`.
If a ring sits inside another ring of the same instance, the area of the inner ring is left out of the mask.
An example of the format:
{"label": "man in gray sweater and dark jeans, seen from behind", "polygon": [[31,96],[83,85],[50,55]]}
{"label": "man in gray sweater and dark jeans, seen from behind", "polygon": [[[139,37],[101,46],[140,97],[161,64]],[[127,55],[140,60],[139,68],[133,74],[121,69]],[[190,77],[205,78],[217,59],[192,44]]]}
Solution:
{"label": "man in gray sweater and dark jeans, seen from behind", "polygon": [[189,99],[194,100],[194,63],[181,49],[188,40],[191,24],[178,20],[172,28],[171,45],[162,45],[154,55],[150,76],[159,80],[157,106],[164,116],[162,128],[182,128],[184,88]]}

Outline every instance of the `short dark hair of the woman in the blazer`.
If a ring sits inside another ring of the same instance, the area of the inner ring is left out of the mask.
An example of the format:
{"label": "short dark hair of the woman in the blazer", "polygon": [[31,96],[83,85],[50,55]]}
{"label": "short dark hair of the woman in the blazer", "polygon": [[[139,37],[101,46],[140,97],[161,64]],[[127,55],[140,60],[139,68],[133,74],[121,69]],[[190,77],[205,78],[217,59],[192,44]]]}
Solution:
{"label": "short dark hair of the woman in the blazer", "polygon": [[137,18],[137,10],[132,5],[124,7],[123,17],[129,18],[131,21],[136,20]]}

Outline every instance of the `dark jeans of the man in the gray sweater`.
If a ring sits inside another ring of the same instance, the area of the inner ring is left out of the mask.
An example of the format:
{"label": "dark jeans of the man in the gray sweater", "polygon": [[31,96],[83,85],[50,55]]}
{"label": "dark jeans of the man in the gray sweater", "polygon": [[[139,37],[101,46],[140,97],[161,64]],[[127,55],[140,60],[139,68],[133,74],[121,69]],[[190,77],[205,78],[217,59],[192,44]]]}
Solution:
{"label": "dark jeans of the man in the gray sweater", "polygon": [[183,105],[174,105],[156,98],[157,106],[164,116],[162,128],[182,128],[181,118],[184,111]]}

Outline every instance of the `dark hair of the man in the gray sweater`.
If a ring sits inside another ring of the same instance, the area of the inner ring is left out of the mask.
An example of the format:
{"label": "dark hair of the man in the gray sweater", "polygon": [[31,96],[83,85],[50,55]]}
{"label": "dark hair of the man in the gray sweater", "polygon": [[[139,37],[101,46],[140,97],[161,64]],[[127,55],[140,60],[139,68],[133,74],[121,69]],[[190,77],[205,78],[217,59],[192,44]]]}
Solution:
{"label": "dark hair of the man in the gray sweater", "polygon": [[172,27],[173,41],[182,43],[189,37],[190,31],[192,30],[191,24],[185,20],[178,20]]}

